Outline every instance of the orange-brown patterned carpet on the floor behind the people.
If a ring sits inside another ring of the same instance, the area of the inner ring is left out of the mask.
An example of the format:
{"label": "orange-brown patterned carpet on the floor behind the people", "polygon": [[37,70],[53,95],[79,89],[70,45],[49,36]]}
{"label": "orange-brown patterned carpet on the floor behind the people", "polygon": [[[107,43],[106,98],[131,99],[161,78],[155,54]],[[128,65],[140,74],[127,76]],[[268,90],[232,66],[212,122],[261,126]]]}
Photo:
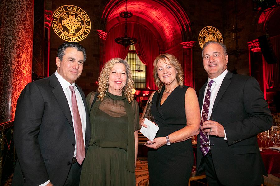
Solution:
{"label": "orange-brown patterned carpet on the floor behind the people", "polygon": [[[136,186],[148,186],[149,184],[149,172],[148,172],[148,161],[147,157],[139,157],[136,162]],[[13,174],[2,178],[2,186],[11,186],[12,185]]]}

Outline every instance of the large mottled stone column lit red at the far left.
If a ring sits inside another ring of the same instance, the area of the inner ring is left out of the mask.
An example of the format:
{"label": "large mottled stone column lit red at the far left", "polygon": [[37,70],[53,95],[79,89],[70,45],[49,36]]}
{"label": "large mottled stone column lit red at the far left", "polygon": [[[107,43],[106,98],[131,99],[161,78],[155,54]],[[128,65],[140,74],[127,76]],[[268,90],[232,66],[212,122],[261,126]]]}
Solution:
{"label": "large mottled stone column lit red at the far left", "polygon": [[33,0],[0,3],[0,121],[14,119],[16,102],[31,82]]}

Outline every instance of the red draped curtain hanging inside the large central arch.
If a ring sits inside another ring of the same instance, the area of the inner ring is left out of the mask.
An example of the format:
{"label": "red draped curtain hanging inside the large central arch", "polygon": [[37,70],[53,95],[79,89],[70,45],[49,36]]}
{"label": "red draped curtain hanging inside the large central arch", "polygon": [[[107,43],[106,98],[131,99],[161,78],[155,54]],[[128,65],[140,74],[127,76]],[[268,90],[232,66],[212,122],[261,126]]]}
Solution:
{"label": "red draped curtain hanging inside the large central arch", "polygon": [[[156,56],[159,55],[159,47],[156,38],[150,31],[142,26],[140,26],[139,30],[138,24],[128,23],[127,27],[129,37],[134,37],[138,40],[140,33],[140,47],[139,43],[137,42],[137,44],[135,44],[135,49],[137,54],[139,54],[140,50],[140,60],[147,66],[146,86],[148,89],[157,90],[153,78],[153,61]],[[105,42],[105,62],[114,57],[119,57],[122,59],[126,58],[129,47],[125,49],[124,46],[119,45],[115,42],[115,38],[121,36],[124,36],[124,24],[120,24],[114,27],[107,34]],[[102,65],[100,67],[100,69],[102,69],[104,64],[100,65]]]}

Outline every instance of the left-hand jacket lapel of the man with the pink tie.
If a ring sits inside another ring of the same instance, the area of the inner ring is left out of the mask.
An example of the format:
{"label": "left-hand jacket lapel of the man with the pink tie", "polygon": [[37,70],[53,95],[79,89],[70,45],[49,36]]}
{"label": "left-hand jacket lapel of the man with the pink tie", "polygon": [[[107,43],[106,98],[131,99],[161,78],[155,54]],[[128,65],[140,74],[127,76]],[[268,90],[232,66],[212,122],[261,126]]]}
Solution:
{"label": "left-hand jacket lapel of the man with the pink tie", "polygon": [[52,92],[54,93],[54,96],[56,97],[56,100],[57,100],[61,110],[63,111],[65,117],[67,118],[72,129],[74,130],[72,117],[71,117],[71,111],[69,108],[68,101],[66,99],[64,91],[63,91],[57,77],[55,76],[55,74],[53,74],[49,77],[49,84],[50,84],[50,86],[54,87],[54,90],[52,90]]}

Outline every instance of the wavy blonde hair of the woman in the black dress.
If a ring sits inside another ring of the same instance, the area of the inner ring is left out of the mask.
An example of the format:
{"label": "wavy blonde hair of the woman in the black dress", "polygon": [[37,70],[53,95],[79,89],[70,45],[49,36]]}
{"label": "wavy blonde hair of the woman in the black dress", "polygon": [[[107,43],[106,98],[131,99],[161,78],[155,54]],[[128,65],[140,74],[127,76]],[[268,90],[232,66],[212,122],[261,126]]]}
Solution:
{"label": "wavy blonde hair of the woman in the black dress", "polygon": [[157,92],[160,92],[162,87],[164,86],[164,84],[161,82],[160,78],[158,77],[157,62],[159,60],[162,60],[162,61],[165,62],[165,59],[177,70],[176,80],[177,80],[178,84],[180,86],[184,85],[184,77],[183,77],[184,72],[183,72],[182,66],[179,63],[179,61],[177,60],[177,58],[172,54],[167,54],[167,53],[166,54],[161,54],[161,55],[157,56],[156,59],[154,60],[153,73],[154,73],[155,84],[158,87]]}

